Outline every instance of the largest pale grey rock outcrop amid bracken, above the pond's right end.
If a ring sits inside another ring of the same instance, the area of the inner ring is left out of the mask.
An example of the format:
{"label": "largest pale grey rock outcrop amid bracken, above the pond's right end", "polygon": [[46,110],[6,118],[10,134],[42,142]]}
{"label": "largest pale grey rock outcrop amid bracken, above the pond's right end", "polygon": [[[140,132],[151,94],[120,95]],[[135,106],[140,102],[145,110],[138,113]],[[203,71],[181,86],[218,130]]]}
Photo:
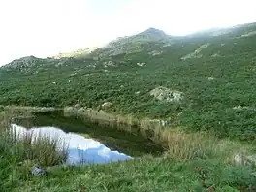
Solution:
{"label": "largest pale grey rock outcrop amid bracken, above the pond's right end", "polygon": [[155,99],[165,102],[179,102],[182,99],[182,92],[171,90],[169,88],[159,86],[150,91],[150,95]]}

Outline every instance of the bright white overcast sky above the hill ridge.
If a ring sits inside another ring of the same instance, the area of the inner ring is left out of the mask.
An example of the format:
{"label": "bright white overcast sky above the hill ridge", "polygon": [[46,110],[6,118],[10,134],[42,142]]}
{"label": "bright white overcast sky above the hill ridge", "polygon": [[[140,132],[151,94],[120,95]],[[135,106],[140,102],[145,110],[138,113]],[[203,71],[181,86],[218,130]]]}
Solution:
{"label": "bright white overcast sky above the hill ridge", "polygon": [[256,21],[255,0],[0,0],[0,66],[89,48],[149,27],[170,35]]}

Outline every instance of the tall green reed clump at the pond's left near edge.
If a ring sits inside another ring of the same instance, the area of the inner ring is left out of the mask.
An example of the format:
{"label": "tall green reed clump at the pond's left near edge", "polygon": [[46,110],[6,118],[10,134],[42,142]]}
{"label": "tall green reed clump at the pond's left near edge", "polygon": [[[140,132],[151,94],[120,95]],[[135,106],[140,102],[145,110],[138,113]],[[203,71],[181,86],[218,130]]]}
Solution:
{"label": "tall green reed clump at the pond's left near edge", "polygon": [[8,150],[16,161],[33,161],[42,166],[63,163],[67,157],[67,146],[59,145],[59,139],[31,133],[17,133],[7,128],[0,136],[1,148]]}

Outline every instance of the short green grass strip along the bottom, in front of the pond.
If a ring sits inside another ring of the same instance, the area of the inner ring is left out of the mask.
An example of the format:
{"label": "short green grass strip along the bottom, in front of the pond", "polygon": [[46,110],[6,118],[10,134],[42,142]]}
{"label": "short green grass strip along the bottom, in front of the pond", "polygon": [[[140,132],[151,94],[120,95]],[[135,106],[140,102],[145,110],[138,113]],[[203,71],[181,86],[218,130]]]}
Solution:
{"label": "short green grass strip along the bottom, in front of the pond", "polygon": [[[189,162],[149,157],[129,162],[82,168],[55,168],[44,177],[24,178],[16,167],[9,170],[1,191],[240,191],[256,187],[245,167],[218,160]],[[5,173],[6,174],[6,173]],[[3,178],[2,178],[3,179]],[[1,179],[1,180],[2,180]]]}

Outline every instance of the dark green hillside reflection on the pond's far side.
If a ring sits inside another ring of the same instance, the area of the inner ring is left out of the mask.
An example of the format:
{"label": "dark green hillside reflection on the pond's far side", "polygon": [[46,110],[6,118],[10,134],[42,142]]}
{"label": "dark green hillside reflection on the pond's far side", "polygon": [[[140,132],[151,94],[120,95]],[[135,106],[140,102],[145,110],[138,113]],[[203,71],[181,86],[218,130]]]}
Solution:
{"label": "dark green hillside reflection on the pond's far side", "polygon": [[155,144],[144,137],[138,129],[127,132],[107,124],[91,121],[89,118],[81,118],[75,115],[64,115],[63,111],[55,112],[31,112],[24,116],[14,117],[12,123],[27,128],[55,127],[66,133],[77,133],[85,138],[94,139],[106,145],[112,150],[121,151],[133,157],[145,154],[159,156],[164,152],[160,144]]}

